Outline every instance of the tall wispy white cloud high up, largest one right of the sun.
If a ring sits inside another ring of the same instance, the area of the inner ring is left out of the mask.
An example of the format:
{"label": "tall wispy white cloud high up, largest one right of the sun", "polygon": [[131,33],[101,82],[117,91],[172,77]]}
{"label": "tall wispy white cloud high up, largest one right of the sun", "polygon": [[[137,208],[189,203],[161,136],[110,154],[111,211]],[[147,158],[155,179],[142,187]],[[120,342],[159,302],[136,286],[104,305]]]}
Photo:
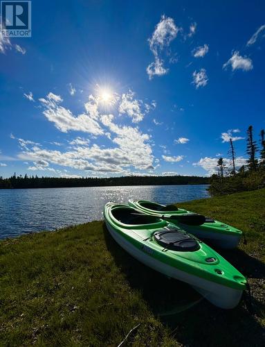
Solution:
{"label": "tall wispy white cloud high up, largest one right of the sun", "polygon": [[[146,71],[151,80],[153,76],[163,76],[167,74],[168,69],[164,67],[164,61],[159,54],[176,38],[177,33],[181,30],[174,23],[174,19],[163,15],[161,21],[156,25],[152,37],[148,39],[149,48],[154,54],[154,62],[148,65]],[[171,60],[173,62],[173,60]],[[174,62],[176,60],[174,59]]]}

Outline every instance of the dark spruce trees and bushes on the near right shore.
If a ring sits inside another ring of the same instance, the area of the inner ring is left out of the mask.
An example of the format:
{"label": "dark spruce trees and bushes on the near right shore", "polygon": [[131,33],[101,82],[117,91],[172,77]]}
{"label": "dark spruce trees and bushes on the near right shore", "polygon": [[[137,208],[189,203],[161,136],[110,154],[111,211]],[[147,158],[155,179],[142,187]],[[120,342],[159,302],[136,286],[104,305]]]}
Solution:
{"label": "dark spruce trees and bushes on the near right shore", "polygon": [[265,132],[260,132],[259,145],[253,136],[253,126],[246,132],[246,165],[236,170],[235,146],[230,138],[228,155],[230,164],[223,158],[217,160],[217,174],[210,179],[211,195],[231,194],[265,187]]}

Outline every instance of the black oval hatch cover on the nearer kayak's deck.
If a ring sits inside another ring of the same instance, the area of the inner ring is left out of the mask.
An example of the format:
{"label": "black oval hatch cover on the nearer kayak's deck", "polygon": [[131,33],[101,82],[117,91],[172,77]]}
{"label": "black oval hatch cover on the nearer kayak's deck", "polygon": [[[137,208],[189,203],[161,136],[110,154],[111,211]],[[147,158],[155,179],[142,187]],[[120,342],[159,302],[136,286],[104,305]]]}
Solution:
{"label": "black oval hatch cover on the nearer kayak's deck", "polygon": [[192,235],[176,229],[157,231],[154,233],[154,239],[171,251],[194,252],[200,248],[199,242]]}

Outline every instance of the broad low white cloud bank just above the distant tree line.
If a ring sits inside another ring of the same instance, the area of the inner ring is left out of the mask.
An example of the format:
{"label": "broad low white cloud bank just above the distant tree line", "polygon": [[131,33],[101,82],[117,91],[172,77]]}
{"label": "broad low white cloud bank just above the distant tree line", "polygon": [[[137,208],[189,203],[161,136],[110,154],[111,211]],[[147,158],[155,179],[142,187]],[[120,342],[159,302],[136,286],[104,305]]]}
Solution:
{"label": "broad low white cloud bank just above the distant tree line", "polygon": [[[34,163],[30,170],[49,170],[49,163],[62,167],[98,173],[126,174],[130,167],[141,170],[154,169],[152,147],[147,142],[149,135],[140,133],[137,128],[117,126],[112,115],[102,116],[102,123],[114,133],[113,144],[116,147],[106,149],[93,144],[82,137],[69,142],[67,151],[43,149],[29,140],[23,140],[22,151],[18,154],[21,160]],[[20,139],[21,140],[21,139]],[[51,168],[52,169],[52,168]]]}

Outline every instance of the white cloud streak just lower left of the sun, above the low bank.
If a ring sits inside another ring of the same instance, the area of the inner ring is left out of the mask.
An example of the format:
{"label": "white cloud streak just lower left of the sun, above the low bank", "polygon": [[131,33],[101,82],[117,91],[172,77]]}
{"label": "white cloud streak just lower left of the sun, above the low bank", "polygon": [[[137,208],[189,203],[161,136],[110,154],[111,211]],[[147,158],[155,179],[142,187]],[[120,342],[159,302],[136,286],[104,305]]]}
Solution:
{"label": "white cloud streak just lower left of the sun, above the low bank", "polygon": [[89,99],[85,104],[86,113],[75,117],[70,110],[60,106],[63,99],[60,95],[49,93],[46,99],[39,99],[44,106],[43,114],[55,124],[55,127],[67,133],[69,130],[82,131],[93,135],[102,135],[103,130],[96,121],[98,118],[97,104],[95,100]]}

